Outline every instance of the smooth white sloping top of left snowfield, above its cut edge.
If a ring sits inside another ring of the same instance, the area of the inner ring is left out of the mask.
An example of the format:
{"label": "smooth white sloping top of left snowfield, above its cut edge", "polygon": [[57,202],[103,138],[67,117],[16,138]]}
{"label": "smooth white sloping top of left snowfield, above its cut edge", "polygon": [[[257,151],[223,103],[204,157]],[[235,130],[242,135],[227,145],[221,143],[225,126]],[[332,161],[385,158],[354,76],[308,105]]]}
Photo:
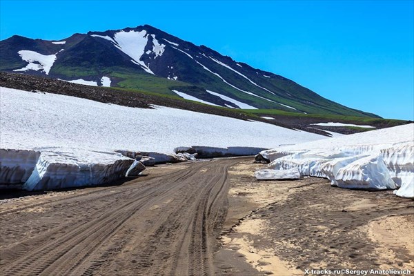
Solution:
{"label": "smooth white sloping top of left snowfield, above its cut edge", "polygon": [[275,148],[326,138],[259,121],[161,106],[130,108],[10,88],[0,88],[0,97],[1,148],[55,146],[170,154],[177,145]]}

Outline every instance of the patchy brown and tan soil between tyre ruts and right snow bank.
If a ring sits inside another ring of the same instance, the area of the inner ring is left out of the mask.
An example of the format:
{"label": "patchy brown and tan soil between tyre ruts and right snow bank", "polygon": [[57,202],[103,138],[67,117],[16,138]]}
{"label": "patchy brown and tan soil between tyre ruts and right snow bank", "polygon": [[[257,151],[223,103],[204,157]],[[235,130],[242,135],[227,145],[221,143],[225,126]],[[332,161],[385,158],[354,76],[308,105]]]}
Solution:
{"label": "patchy brown and tan soil between tyre ruts and right snow bank", "polygon": [[[414,270],[411,199],[392,191],[334,188],[313,177],[257,181],[253,172],[263,165],[249,163],[230,168],[228,214],[233,215],[224,225],[233,228],[216,253],[219,275],[304,275],[306,268]],[[256,208],[243,217],[245,206]]]}

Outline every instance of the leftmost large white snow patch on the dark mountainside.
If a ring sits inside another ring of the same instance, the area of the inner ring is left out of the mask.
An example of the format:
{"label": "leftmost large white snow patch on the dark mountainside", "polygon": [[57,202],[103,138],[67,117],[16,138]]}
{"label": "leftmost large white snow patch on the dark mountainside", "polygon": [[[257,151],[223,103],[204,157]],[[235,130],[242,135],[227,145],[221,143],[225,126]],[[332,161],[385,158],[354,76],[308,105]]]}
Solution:
{"label": "leftmost large white snow patch on the dark mountainside", "polygon": [[17,52],[23,61],[28,62],[28,65],[13,71],[43,71],[46,75],[49,75],[50,68],[52,68],[53,63],[55,63],[56,55],[41,55],[39,52],[34,52],[30,50],[20,50]]}

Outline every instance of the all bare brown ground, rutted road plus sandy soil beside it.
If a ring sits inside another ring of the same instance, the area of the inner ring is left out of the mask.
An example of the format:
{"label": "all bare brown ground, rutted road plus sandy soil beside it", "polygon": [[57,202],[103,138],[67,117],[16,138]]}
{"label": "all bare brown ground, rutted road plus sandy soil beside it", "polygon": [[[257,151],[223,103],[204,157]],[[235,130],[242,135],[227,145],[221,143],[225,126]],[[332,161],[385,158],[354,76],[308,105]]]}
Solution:
{"label": "all bare brown ground, rutted road plus sandy soil beside it", "polygon": [[188,162],[121,186],[3,199],[0,275],[414,270],[413,201],[326,179],[257,181],[262,167]]}

